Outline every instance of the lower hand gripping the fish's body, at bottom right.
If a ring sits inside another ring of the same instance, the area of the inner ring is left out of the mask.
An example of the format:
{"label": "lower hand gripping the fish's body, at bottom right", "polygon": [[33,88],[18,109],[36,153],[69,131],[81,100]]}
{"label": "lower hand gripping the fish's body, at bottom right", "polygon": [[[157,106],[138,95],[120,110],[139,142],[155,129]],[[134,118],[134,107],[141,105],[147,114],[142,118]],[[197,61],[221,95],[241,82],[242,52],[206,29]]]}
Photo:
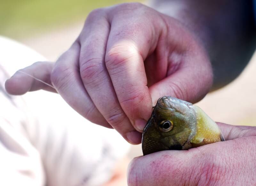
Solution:
{"label": "lower hand gripping the fish's body, at bottom right", "polygon": [[254,185],[256,127],[218,125],[227,141],[135,158],[128,186]]}

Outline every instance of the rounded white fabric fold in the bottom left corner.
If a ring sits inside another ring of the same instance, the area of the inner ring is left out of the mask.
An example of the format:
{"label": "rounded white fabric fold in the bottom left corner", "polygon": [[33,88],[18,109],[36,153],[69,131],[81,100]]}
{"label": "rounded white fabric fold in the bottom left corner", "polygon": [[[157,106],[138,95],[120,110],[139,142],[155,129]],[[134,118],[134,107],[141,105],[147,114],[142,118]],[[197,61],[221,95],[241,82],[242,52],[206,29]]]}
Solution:
{"label": "rounded white fabric fold in the bottom left corner", "polygon": [[0,185],[44,185],[39,153],[3,118],[0,118],[0,154]]}

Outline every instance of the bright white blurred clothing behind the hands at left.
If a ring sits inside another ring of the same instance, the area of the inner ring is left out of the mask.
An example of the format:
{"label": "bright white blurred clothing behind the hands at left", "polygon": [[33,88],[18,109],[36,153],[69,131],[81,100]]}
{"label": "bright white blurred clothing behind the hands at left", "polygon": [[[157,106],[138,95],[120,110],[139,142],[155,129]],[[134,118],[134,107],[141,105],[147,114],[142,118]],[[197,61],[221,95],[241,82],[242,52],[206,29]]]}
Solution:
{"label": "bright white blurred clothing behind the hands at left", "polygon": [[92,124],[55,93],[8,95],[8,78],[45,58],[0,36],[0,185],[97,186],[107,182],[130,145]]}

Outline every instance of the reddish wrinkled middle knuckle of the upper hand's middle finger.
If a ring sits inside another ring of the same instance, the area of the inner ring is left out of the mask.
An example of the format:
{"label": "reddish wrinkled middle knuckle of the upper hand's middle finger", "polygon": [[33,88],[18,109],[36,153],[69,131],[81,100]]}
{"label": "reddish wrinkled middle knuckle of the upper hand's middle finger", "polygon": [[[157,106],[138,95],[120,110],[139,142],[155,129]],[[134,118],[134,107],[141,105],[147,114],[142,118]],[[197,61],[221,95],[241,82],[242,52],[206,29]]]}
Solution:
{"label": "reddish wrinkled middle knuckle of the upper hand's middle finger", "polygon": [[101,72],[104,71],[101,59],[93,58],[81,64],[80,75],[84,83],[88,84],[97,79]]}

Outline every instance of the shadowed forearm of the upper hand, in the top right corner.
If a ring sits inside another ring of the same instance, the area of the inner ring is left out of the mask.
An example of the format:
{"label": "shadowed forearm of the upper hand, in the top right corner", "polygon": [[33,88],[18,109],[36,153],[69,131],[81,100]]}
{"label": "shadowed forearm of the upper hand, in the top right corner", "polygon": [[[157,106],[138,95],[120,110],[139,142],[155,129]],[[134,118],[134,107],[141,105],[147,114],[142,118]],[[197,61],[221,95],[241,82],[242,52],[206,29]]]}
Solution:
{"label": "shadowed forearm of the upper hand, in the top right corner", "polygon": [[234,80],[251,59],[256,44],[252,1],[153,0],[151,6],[178,19],[203,44],[214,72],[212,90]]}

